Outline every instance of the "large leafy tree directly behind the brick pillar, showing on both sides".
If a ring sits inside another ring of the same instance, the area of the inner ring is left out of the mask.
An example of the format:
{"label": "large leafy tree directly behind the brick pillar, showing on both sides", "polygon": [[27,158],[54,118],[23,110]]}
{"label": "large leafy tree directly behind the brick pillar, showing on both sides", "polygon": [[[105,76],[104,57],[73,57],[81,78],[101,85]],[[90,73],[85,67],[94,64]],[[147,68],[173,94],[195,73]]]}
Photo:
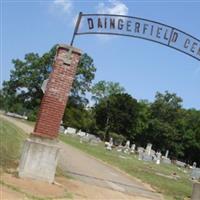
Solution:
{"label": "large leafy tree directly behind the brick pillar, showing on both sides", "polygon": [[[10,80],[3,83],[3,95],[6,97],[7,110],[36,115],[43,96],[41,85],[52,70],[55,52],[56,46],[42,56],[29,53],[25,55],[24,60],[12,61],[14,69],[11,70]],[[71,91],[71,96],[76,103],[87,102],[84,95],[90,90],[95,71],[92,58],[83,54]]]}

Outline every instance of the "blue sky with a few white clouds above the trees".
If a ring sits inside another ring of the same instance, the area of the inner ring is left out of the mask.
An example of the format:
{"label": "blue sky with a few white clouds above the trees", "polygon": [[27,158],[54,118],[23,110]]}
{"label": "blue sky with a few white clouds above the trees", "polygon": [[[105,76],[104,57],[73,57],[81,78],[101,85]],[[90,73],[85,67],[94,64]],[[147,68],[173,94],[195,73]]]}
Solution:
{"label": "blue sky with a few white clouds above the trees", "polygon": [[[1,83],[11,60],[29,52],[42,55],[71,41],[77,14],[130,15],[174,26],[200,39],[200,1],[1,1]],[[119,82],[137,99],[156,91],[175,92],[185,108],[200,110],[200,61],[163,45],[120,36],[77,36],[74,46],[97,67],[94,82]]]}

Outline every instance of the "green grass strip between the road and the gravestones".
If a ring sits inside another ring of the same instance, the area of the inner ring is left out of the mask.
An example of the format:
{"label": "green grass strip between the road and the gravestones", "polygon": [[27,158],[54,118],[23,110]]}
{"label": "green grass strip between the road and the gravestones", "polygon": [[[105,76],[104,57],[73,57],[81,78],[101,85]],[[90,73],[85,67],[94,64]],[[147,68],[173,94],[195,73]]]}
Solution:
{"label": "green grass strip between the road and the gravestones", "polygon": [[[139,161],[134,155],[125,155],[116,151],[107,151],[104,144],[92,146],[87,143],[80,143],[79,139],[60,135],[60,139],[102,161],[116,166],[131,176],[139,178],[145,183],[150,184],[157,192],[164,195],[165,199],[183,200],[191,196],[192,182],[189,180],[188,174],[183,170],[179,170],[174,165],[160,164],[156,165],[150,162]],[[124,158],[120,158],[119,156]],[[156,173],[170,176],[176,173],[180,178],[178,180],[169,179]]]}

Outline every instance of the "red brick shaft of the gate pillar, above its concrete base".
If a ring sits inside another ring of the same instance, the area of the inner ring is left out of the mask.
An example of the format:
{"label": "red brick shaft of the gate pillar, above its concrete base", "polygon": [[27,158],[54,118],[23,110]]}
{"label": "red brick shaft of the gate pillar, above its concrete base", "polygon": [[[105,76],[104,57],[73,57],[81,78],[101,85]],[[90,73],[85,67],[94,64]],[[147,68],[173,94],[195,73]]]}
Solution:
{"label": "red brick shaft of the gate pillar, above its concrete base", "polygon": [[33,135],[57,137],[80,56],[79,49],[58,45]]}

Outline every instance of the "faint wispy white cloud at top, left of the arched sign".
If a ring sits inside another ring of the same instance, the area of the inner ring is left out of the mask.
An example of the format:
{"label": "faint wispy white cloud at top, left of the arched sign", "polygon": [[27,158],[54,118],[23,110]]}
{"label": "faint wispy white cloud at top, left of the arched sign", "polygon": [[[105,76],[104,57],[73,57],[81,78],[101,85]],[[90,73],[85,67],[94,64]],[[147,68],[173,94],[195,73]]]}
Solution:
{"label": "faint wispy white cloud at top, left of the arched sign", "polygon": [[69,14],[72,9],[72,1],[71,0],[54,0],[52,8],[54,9],[54,11]]}

